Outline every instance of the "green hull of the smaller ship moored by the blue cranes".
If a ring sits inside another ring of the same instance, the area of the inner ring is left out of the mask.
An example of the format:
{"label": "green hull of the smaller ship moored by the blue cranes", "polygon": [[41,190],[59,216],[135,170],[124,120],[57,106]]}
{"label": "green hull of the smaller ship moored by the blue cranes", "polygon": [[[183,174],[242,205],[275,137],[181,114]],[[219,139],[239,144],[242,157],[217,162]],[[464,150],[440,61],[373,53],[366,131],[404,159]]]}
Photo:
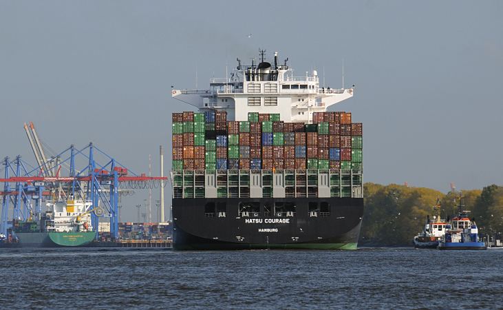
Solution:
{"label": "green hull of the smaller ship moored by the blue cranes", "polygon": [[96,233],[85,232],[25,232],[16,233],[21,247],[82,247],[94,240]]}

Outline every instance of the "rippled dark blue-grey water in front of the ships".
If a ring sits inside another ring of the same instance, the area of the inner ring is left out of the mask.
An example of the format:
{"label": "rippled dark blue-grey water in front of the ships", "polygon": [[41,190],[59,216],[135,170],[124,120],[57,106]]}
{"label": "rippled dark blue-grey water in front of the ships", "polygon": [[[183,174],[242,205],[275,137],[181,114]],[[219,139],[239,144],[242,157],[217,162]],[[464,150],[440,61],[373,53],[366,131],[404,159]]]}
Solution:
{"label": "rippled dark blue-grey water in front of the ships", "polygon": [[0,249],[0,309],[503,308],[503,250]]}

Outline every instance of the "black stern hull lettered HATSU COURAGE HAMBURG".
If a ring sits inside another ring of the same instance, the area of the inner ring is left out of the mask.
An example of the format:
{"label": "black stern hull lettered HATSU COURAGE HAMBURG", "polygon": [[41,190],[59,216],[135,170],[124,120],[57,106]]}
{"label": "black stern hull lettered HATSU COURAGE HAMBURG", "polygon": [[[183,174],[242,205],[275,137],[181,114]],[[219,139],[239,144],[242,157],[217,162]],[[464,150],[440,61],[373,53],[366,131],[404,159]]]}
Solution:
{"label": "black stern hull lettered HATSU COURAGE HAMBURG", "polygon": [[[322,202],[330,212],[312,216],[310,205]],[[208,217],[208,203],[225,206],[225,217]],[[239,203],[260,209],[240,216]],[[275,203],[295,205],[295,215],[265,214]],[[173,248],[356,249],[362,217],[363,198],[173,198]]]}

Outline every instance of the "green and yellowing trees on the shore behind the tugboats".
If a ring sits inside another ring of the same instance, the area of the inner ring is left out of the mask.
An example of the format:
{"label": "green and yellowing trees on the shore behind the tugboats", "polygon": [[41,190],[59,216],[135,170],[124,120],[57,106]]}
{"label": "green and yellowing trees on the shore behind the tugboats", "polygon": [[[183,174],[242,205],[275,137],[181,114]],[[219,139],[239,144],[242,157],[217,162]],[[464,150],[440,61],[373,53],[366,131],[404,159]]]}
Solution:
{"label": "green and yellowing trees on the shore behind the tugboats", "polygon": [[456,215],[459,197],[482,234],[503,231],[503,187],[489,185],[480,189],[444,194],[425,187],[365,183],[365,211],[359,245],[409,246],[422,231],[427,216],[434,215],[440,200],[440,217]]}

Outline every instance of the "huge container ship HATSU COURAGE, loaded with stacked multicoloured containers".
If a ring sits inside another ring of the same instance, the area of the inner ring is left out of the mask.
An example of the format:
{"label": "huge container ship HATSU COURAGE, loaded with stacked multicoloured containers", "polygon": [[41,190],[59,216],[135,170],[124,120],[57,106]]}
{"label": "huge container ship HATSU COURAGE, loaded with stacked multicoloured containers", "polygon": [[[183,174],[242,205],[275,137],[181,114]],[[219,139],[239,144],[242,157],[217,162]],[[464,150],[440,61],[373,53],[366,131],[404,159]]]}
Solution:
{"label": "huge container ship HATSU COURAGE, loaded with stacked multicoloured containers", "polygon": [[356,249],[362,124],[327,108],[354,95],[294,76],[287,61],[242,65],[207,90],[171,91],[175,249]]}

